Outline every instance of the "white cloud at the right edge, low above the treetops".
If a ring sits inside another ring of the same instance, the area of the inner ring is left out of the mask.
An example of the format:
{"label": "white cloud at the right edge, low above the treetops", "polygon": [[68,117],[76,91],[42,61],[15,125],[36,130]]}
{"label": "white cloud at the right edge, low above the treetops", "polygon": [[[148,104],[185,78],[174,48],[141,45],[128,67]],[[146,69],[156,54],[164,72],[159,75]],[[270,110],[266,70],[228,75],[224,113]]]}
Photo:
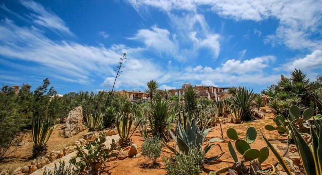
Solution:
{"label": "white cloud at the right edge, low above the treetops", "polygon": [[322,50],[314,50],[311,54],[304,58],[294,59],[283,65],[283,69],[293,71],[294,69],[302,69],[304,71],[312,71],[314,69],[322,69]]}

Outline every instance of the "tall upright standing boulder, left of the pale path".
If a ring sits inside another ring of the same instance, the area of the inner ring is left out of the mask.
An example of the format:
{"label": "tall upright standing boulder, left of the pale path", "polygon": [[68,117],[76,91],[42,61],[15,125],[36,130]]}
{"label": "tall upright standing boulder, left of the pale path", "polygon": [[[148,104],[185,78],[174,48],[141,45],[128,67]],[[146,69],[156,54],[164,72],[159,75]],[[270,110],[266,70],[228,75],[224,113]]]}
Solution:
{"label": "tall upright standing boulder, left of the pale path", "polygon": [[68,113],[65,128],[65,137],[74,136],[83,130],[83,108],[81,106],[78,106]]}

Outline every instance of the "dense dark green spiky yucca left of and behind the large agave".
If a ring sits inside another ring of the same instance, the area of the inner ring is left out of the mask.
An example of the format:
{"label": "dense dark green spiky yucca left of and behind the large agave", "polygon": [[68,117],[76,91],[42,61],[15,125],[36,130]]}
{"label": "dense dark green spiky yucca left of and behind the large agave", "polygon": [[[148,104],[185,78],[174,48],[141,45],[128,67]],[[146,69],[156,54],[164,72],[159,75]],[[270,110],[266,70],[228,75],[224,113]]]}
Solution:
{"label": "dense dark green spiky yucca left of and behind the large agave", "polygon": [[149,126],[153,136],[167,139],[167,130],[171,124],[169,104],[164,99],[154,100],[148,115]]}

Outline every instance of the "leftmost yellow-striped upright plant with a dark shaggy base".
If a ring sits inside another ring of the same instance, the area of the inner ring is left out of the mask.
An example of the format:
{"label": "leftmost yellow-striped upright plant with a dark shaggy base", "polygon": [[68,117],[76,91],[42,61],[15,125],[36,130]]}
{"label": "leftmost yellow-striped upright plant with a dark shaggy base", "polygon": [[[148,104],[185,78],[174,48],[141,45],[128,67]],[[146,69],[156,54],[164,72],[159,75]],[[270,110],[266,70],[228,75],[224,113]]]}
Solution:
{"label": "leftmost yellow-striped upright plant with a dark shaggy base", "polygon": [[32,141],[34,143],[32,148],[32,156],[34,158],[45,155],[47,152],[47,141],[55,129],[56,125],[50,127],[50,119],[40,119],[36,117],[32,121]]}

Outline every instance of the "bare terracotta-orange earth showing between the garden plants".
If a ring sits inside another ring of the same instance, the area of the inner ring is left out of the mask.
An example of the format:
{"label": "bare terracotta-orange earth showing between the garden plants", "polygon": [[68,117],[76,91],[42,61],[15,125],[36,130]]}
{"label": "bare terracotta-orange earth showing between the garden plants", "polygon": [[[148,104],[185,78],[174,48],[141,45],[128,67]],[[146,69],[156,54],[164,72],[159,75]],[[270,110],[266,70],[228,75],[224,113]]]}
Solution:
{"label": "bare terracotta-orange earth showing between the garden plants", "polygon": [[[267,109],[267,108],[265,108]],[[274,117],[274,114],[265,114],[265,118],[259,121],[255,122],[245,122],[242,124],[233,124],[233,123],[227,123],[222,124],[222,130],[224,139],[228,141],[229,139],[226,136],[225,131],[229,127],[233,127],[237,130],[239,137],[244,137],[245,132],[249,126],[254,126],[256,129],[260,129],[264,127],[266,124],[272,124],[275,125],[272,121],[272,118]],[[48,145],[48,151],[51,151],[53,149],[61,149],[65,146],[71,145],[74,141],[76,141],[79,137],[83,135],[84,132],[79,133],[71,138],[64,138],[60,137],[62,130],[60,130],[60,127],[62,124],[58,125],[57,128],[54,130],[53,134],[51,135],[47,145]],[[276,144],[278,149],[280,150],[280,154],[282,154],[285,150],[286,143],[282,143],[281,141],[277,141],[277,139],[285,139],[286,137],[280,136],[277,132],[274,131],[267,131],[265,129],[261,130],[265,136],[268,139],[273,139],[271,143]],[[221,138],[221,131],[220,127],[214,126],[213,129],[208,133],[207,140],[210,138]],[[140,133],[134,133],[132,136],[133,143],[138,145],[138,148],[140,148],[143,138],[141,137]],[[22,166],[24,164],[30,164],[29,157],[31,156],[32,151],[32,138],[31,138],[31,132],[26,132],[24,134],[24,140],[23,142],[26,142],[23,146],[20,146],[18,150],[12,154],[12,157],[5,162],[0,163],[0,169],[7,169],[11,168],[14,169],[18,166]],[[170,142],[170,144],[173,144],[174,142]],[[230,156],[227,143],[218,143],[223,152],[225,154],[220,157],[221,160],[228,160],[233,161],[232,157]],[[233,144],[234,145],[234,144]],[[267,146],[265,141],[263,140],[263,137],[260,134],[260,131],[258,131],[258,137],[254,143],[251,144],[252,148],[261,149],[262,147]],[[166,149],[166,148],[165,148]],[[166,149],[168,150],[168,149]],[[221,150],[219,147],[214,147],[212,150],[210,150],[206,156],[215,156],[221,153]],[[169,156],[170,153],[163,152],[162,156]],[[241,155],[237,152],[238,158],[241,158]],[[269,158],[264,163],[271,163],[273,164],[276,162],[276,157],[271,153]],[[140,174],[153,174],[153,175],[159,175],[159,174],[167,174],[167,171],[164,167],[164,163],[162,161],[162,158],[157,159],[158,166],[155,168],[147,168],[146,165],[149,165],[151,162],[144,156],[134,157],[134,158],[126,158],[123,160],[114,160],[111,162],[106,163],[106,168],[102,171],[101,174],[107,175],[107,174],[115,174],[115,175],[124,175],[124,174],[133,174],[133,175],[140,175]],[[227,162],[219,162],[214,161],[209,164],[204,165],[204,169],[202,171],[202,174],[209,174],[209,171],[214,171],[216,169],[219,169],[224,166],[232,165],[232,163]]]}

